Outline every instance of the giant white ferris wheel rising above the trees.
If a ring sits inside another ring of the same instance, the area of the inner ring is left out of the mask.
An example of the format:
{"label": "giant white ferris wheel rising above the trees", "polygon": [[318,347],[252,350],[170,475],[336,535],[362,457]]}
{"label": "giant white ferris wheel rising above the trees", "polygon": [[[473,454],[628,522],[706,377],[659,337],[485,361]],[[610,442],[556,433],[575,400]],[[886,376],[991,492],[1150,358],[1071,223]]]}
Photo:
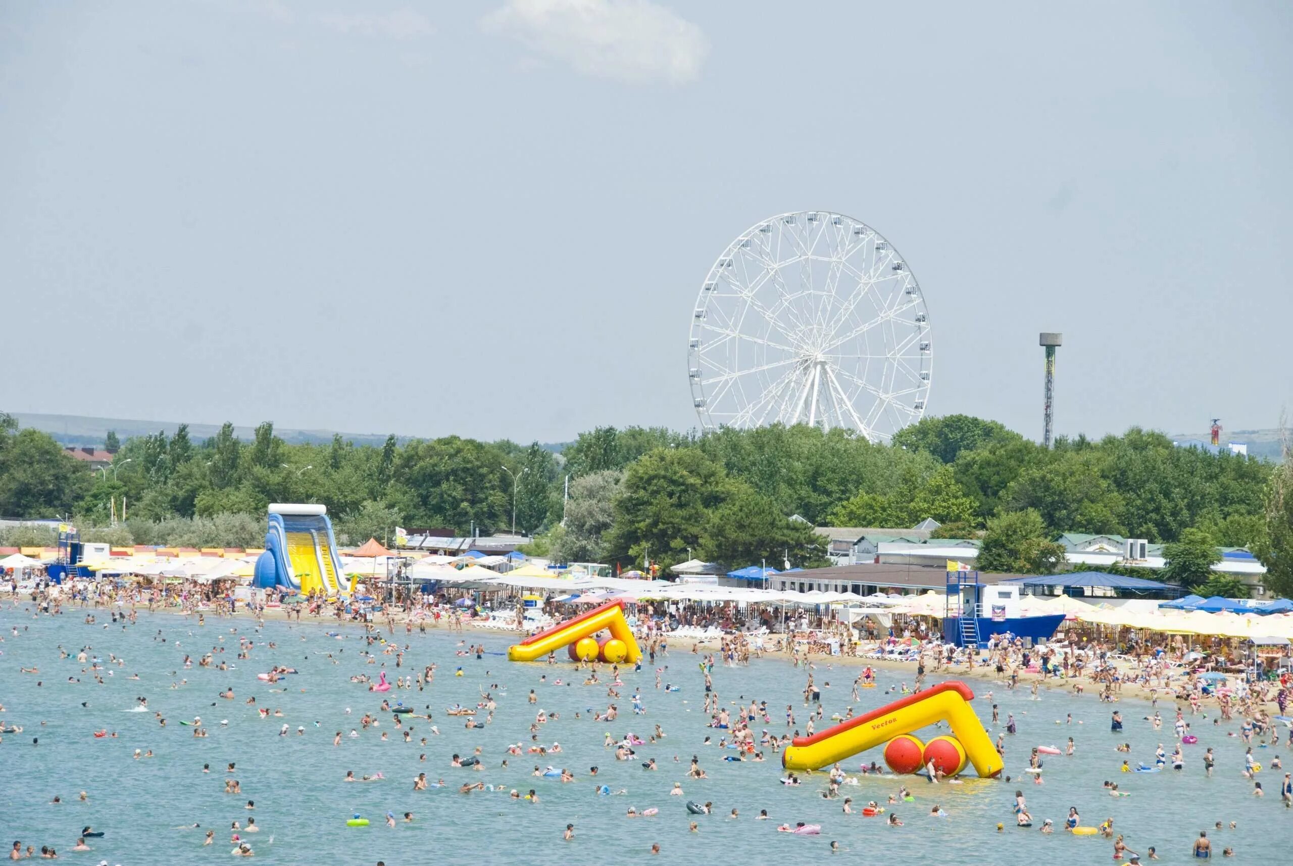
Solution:
{"label": "giant white ferris wheel rising above the trees", "polygon": [[701,284],[689,336],[703,429],[780,421],[878,442],[924,414],[924,296],[893,246],[842,213],[782,213],[728,244]]}

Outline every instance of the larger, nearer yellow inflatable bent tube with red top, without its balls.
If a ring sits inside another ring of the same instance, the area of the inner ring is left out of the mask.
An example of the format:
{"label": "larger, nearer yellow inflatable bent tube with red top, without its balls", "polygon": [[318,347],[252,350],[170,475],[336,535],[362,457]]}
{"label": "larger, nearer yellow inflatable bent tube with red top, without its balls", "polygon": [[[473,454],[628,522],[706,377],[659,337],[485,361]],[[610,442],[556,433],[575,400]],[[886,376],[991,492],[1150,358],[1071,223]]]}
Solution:
{"label": "larger, nearer yellow inflatable bent tube with red top, without its balls", "polygon": [[1001,755],[970,706],[974,692],[965,682],[939,684],[812,737],[795,737],[794,745],[782,752],[781,764],[789,770],[816,770],[874,748],[899,734],[946,721],[975,772],[983,778],[997,776],[1003,768]]}

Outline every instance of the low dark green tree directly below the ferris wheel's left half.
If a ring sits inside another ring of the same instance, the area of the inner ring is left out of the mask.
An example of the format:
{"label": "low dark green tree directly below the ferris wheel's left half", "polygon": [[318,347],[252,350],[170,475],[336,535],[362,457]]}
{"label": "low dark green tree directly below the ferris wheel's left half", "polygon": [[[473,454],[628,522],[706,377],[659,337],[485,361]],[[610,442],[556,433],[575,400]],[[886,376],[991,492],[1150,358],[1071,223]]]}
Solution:
{"label": "low dark green tree directly below the ferris wheel's left half", "polygon": [[826,565],[825,545],[813,527],[787,520],[750,485],[734,482],[725,502],[710,511],[700,556],[732,567],[759,565],[781,569]]}

